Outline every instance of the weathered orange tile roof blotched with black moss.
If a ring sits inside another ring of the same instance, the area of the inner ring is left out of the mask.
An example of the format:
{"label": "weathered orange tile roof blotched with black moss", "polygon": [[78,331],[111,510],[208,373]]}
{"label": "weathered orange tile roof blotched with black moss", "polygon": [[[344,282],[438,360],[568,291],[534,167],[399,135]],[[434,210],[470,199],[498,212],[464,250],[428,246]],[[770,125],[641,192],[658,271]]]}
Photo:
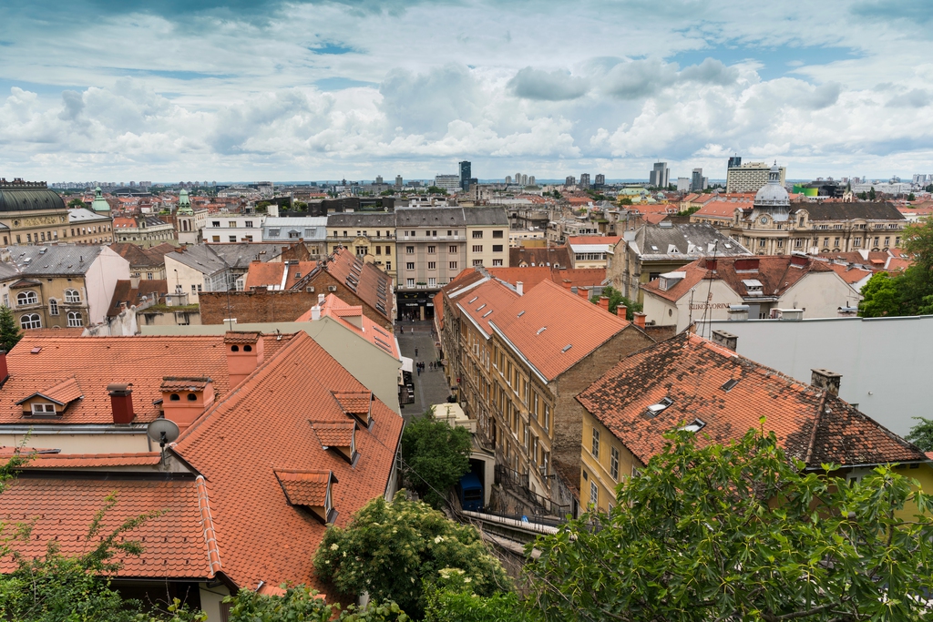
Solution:
{"label": "weathered orange tile roof blotched with black moss", "polygon": [[[727,381],[737,380],[723,388]],[[671,400],[650,416],[648,407]],[[663,434],[699,420],[701,446],[759,427],[809,467],[923,461],[923,452],[836,396],[735,352],[681,333],[623,359],[577,397],[642,463],[668,442]]]}

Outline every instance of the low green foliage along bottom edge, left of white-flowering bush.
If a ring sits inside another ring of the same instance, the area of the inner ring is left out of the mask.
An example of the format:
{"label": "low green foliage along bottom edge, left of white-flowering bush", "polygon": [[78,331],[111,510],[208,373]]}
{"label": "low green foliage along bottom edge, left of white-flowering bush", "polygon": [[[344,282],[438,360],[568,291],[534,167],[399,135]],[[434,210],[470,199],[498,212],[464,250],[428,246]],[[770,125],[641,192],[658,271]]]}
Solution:
{"label": "low green foliage along bottom edge, left of white-flowering bush", "polygon": [[370,602],[365,607],[350,605],[341,612],[339,604],[328,604],[313,589],[283,587],[285,593],[281,596],[265,596],[249,589],[228,596],[224,599],[230,603],[228,619],[230,622],[407,622],[410,619],[395,602]]}

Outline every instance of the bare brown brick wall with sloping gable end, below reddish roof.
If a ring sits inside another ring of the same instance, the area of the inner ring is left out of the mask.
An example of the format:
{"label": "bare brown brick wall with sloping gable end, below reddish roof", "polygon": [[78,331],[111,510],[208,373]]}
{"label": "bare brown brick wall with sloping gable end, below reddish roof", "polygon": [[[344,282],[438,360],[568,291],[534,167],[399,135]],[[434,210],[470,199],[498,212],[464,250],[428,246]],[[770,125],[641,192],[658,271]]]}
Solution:
{"label": "bare brown brick wall with sloping gable end, below reddish roof", "polygon": [[[201,304],[202,324],[223,324],[225,318],[234,317],[240,324],[253,322],[294,322],[317,304],[318,294],[336,294],[349,305],[362,305],[363,314],[373,322],[391,330],[392,323],[382,313],[369,307],[344,283],[337,281],[326,271],[321,270],[314,276],[306,289],[301,291],[275,291],[265,288],[249,292],[230,292],[228,311],[227,292],[202,292],[198,295]],[[331,292],[329,287],[336,287]]]}

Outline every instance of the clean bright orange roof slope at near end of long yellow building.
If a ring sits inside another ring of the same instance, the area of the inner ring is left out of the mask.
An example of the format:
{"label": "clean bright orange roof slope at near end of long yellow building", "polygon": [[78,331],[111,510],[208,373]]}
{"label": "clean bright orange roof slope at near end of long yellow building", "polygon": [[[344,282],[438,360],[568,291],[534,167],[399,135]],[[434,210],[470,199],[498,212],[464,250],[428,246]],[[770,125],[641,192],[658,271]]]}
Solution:
{"label": "clean bright orange roof slope at near end of long yellow building", "polygon": [[550,281],[526,291],[490,324],[548,381],[629,325]]}

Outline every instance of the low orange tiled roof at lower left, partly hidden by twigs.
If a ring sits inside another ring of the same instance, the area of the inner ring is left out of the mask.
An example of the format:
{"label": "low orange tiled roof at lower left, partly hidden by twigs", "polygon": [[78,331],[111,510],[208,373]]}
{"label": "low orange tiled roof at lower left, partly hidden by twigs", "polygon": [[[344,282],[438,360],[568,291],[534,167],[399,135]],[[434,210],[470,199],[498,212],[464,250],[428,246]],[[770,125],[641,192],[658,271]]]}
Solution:
{"label": "low orange tiled roof at lower left, partly hidden by twigs", "polygon": [[[202,497],[203,477],[167,481],[76,481],[57,477],[21,477],[0,495],[0,520],[32,525],[28,542],[13,546],[26,559],[43,556],[52,542],[66,556],[91,551],[98,543],[96,539],[87,539],[88,526],[104,507],[107,495],[117,491],[117,505],[104,516],[104,532],[116,529],[128,518],[165,511],[129,534],[129,538],[143,546],[144,553],[139,557],[115,556],[113,561],[122,563],[118,576],[149,579],[215,576],[218,568],[216,565],[212,568],[213,546],[205,538],[207,525],[202,518],[202,503],[206,504],[206,496]],[[0,560],[0,572],[8,573],[15,567],[11,556]]]}

